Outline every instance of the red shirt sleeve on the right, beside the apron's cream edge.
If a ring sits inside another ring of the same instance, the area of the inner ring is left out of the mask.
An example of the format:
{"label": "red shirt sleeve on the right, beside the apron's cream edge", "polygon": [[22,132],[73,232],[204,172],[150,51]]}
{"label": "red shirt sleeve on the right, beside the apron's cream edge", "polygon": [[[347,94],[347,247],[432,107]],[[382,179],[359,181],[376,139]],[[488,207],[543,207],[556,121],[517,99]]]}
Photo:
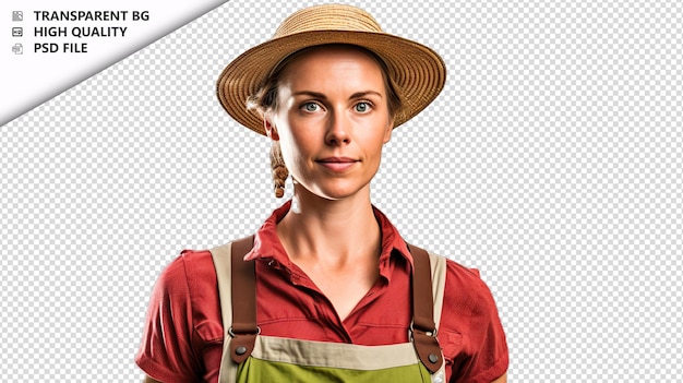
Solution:
{"label": "red shirt sleeve on the right, beside the apron's cream edge", "polygon": [[490,383],[507,371],[505,332],[491,290],[477,271],[452,261],[439,334],[451,383]]}

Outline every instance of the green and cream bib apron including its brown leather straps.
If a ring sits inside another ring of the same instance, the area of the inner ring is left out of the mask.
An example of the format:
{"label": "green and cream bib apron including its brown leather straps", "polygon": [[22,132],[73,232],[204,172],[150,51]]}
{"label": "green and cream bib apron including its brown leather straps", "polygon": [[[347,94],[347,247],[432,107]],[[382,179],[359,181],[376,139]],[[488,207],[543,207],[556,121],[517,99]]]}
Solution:
{"label": "green and cream bib apron including its brown leather straps", "polygon": [[[445,363],[435,337],[446,275],[444,258],[409,247],[415,274],[427,279],[418,283],[414,277],[414,297],[420,298],[414,300],[414,324],[407,328],[412,342],[362,346],[260,335],[255,325],[254,262],[243,261],[252,241],[249,237],[211,250],[226,328],[219,383],[445,382]],[[420,274],[419,268],[423,271]],[[426,326],[434,330],[419,330]]]}

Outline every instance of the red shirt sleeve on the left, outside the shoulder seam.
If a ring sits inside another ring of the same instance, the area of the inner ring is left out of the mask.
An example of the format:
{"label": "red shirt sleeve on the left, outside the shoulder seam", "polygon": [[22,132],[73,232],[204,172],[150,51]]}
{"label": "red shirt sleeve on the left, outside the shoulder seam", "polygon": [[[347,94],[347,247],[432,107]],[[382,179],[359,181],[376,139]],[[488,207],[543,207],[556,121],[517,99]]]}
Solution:
{"label": "red shirt sleeve on the left, outside the shoulder seam", "polygon": [[135,362],[164,383],[190,382],[201,376],[193,347],[190,289],[183,256],[171,262],[154,286],[142,344]]}

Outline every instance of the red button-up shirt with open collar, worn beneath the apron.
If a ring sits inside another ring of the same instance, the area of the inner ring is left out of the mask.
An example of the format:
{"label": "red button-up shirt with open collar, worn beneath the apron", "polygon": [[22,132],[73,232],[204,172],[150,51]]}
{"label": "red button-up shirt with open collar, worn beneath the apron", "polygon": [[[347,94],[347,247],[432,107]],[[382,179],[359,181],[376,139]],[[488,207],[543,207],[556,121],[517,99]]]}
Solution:
{"label": "red button-up shirt with open collar, worn beneath the apron", "polygon": [[[256,260],[256,318],[263,335],[376,346],[408,342],[412,258],[378,210],[380,278],[340,321],[329,300],[293,264],[276,232],[276,210],[247,255]],[[478,273],[448,261],[439,342],[448,382],[491,382],[507,370],[507,344],[495,303]],[[224,330],[208,251],[185,250],[157,280],[135,362],[165,382],[217,382]]]}

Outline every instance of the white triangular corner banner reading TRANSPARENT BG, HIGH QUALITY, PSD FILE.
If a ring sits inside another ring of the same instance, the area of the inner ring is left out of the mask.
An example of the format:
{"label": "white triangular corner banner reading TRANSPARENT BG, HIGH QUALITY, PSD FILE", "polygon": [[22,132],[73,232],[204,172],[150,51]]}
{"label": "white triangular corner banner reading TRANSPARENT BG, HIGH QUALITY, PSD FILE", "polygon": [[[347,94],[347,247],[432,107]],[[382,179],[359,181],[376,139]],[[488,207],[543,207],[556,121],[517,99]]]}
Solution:
{"label": "white triangular corner banner reading TRANSPARENT BG, HIGH QUALITY, PSD FILE", "polygon": [[0,2],[0,125],[225,2]]}

